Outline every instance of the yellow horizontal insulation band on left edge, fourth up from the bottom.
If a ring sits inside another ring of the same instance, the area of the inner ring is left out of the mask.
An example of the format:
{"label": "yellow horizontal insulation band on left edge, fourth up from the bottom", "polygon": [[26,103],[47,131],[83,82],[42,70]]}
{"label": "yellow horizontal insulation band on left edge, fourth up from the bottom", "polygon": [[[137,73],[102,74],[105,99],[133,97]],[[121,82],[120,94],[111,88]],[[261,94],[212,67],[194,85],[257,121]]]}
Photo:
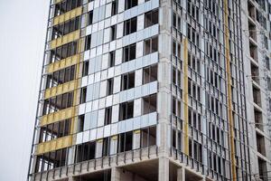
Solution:
{"label": "yellow horizontal insulation band on left edge, fourth up from the bottom", "polygon": [[66,59],[62,59],[61,61],[52,62],[51,64],[48,65],[47,72],[51,73],[53,71],[60,71],[61,69],[70,67],[71,65],[76,64],[79,61],[79,59],[80,59],[80,55],[76,54]]}

